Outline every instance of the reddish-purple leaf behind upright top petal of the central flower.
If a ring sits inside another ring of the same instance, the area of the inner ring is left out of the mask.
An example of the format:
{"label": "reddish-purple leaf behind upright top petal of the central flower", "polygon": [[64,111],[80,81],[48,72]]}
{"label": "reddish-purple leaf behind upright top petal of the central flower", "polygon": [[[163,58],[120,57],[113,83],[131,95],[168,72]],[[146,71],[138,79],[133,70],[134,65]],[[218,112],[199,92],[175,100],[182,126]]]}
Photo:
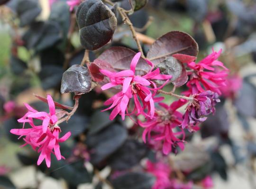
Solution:
{"label": "reddish-purple leaf behind upright top petal of the central flower", "polygon": [[[103,60],[109,63],[116,71],[130,69],[131,60],[135,56],[136,52],[125,47],[111,47],[104,51],[99,57],[99,60]],[[146,60],[140,58],[136,66],[136,74],[144,75],[150,70]]]}

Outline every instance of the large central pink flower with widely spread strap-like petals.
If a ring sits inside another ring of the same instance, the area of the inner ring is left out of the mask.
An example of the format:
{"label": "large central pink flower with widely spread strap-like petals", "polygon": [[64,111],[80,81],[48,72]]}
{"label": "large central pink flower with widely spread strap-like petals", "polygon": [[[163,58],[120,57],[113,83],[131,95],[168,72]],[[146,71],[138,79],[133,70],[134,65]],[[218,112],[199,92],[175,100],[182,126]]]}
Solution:
{"label": "large central pink flower with widely spread strap-like petals", "polygon": [[[113,108],[113,111],[110,114],[110,120],[113,120],[118,114],[121,114],[122,120],[124,120],[125,115],[133,114],[136,111],[137,114],[142,114],[145,117],[150,117],[152,119],[155,112],[155,101],[157,101],[154,100],[155,94],[157,90],[164,87],[172,77],[160,74],[159,69],[153,71],[154,65],[148,60],[146,61],[151,66],[151,70],[144,76],[135,75],[135,68],[140,55],[141,53],[139,52],[134,56],[131,61],[130,69],[128,70],[111,72],[109,70],[100,69],[100,72],[109,77],[110,80],[110,83],[101,87],[102,90],[107,90],[115,86],[122,86],[122,90],[119,93],[115,94],[104,103],[104,105],[111,105],[103,111]],[[157,88],[153,81],[155,79],[166,81],[162,86]],[[153,88],[149,86],[152,86]],[[128,106],[131,98],[134,99],[135,105],[133,112],[128,114]],[[142,102],[143,106],[141,106],[139,100]],[[145,109],[147,109],[147,112],[144,112]]]}

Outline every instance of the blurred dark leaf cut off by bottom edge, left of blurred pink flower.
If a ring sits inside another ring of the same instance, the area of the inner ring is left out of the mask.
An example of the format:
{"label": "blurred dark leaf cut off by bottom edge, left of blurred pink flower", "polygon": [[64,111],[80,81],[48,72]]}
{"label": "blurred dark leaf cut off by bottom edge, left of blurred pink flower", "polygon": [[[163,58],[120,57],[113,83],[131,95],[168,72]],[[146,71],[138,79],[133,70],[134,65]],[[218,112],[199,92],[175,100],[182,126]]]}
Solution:
{"label": "blurred dark leaf cut off by bottom edge, left of blurred pink flower", "polygon": [[145,172],[128,172],[111,182],[115,189],[151,189],[155,177]]}

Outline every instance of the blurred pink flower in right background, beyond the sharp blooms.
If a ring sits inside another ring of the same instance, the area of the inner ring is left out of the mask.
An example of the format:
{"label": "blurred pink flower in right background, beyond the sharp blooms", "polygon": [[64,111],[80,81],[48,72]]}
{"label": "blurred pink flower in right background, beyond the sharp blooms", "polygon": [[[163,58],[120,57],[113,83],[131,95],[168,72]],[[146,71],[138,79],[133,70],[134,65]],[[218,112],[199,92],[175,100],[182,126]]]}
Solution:
{"label": "blurred pink flower in right background, beyond the sharp blooms", "polygon": [[228,76],[226,78],[226,86],[220,87],[220,91],[224,97],[235,98],[237,92],[241,89],[243,80],[238,75]]}

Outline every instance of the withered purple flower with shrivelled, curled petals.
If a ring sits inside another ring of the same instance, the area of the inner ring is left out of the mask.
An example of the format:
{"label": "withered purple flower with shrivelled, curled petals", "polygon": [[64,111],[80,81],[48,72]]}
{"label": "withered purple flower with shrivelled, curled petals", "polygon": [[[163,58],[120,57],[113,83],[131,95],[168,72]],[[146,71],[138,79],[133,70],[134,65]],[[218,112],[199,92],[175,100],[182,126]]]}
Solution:
{"label": "withered purple flower with shrivelled, curled petals", "polygon": [[215,105],[218,102],[220,102],[218,94],[212,91],[195,94],[194,100],[187,106],[183,115],[182,128],[190,129],[191,126],[197,126],[199,122],[205,121],[206,115],[215,112]]}

